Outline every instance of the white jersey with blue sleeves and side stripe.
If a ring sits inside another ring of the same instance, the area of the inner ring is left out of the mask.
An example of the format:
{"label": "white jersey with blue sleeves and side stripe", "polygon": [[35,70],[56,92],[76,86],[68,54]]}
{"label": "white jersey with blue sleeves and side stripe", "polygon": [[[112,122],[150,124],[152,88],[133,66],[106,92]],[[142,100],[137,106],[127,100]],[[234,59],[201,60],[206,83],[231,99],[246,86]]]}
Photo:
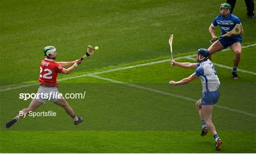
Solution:
{"label": "white jersey with blue sleeves and side stripe", "polygon": [[212,62],[207,59],[202,63],[197,63],[197,66],[195,74],[201,80],[202,92],[217,91],[220,82]]}

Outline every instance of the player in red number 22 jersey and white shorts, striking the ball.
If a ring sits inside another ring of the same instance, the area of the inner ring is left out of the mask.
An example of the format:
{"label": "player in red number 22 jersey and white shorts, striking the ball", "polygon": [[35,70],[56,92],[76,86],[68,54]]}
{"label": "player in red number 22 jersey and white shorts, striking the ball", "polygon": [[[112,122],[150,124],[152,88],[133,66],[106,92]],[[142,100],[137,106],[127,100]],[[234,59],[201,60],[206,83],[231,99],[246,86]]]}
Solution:
{"label": "player in red number 22 jersey and white shorts, striking the ball", "polygon": [[[79,117],[79,118],[76,117],[73,109],[63,97],[61,99],[58,99],[56,97],[56,94],[59,94],[59,91],[57,89],[58,73],[69,74],[78,66],[78,64],[82,63],[82,61],[79,59],[73,62],[54,62],[54,60],[57,57],[57,51],[54,46],[46,46],[44,48],[44,54],[46,58],[42,60],[42,62],[40,63],[40,75],[39,75],[40,87],[38,88],[38,91],[37,91],[37,94],[40,94],[38,95],[39,97],[33,99],[26,109],[22,109],[23,114],[18,114],[15,118],[13,118],[8,123],[6,123],[6,128],[9,128],[13,124],[15,124],[18,121],[18,119],[24,115],[24,113],[28,113],[29,111],[34,111],[42,104],[45,104],[46,101],[49,99],[51,102],[65,109],[66,113],[71,118],[73,118],[74,125],[78,125],[79,123],[82,122],[82,117]],[[63,68],[71,64],[73,65],[68,69]],[[44,95],[42,96],[41,93],[48,94],[50,98],[48,99],[43,98]],[[50,93],[55,93],[55,97],[53,97],[53,95],[50,95]]]}

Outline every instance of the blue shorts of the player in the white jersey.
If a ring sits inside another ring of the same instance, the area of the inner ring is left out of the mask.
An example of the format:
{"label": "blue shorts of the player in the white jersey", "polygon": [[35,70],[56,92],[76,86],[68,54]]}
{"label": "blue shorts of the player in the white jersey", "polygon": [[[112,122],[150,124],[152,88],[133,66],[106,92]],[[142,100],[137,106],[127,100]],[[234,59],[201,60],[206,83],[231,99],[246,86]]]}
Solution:
{"label": "blue shorts of the player in the white jersey", "polygon": [[210,91],[202,93],[202,105],[213,105],[219,100],[219,91]]}

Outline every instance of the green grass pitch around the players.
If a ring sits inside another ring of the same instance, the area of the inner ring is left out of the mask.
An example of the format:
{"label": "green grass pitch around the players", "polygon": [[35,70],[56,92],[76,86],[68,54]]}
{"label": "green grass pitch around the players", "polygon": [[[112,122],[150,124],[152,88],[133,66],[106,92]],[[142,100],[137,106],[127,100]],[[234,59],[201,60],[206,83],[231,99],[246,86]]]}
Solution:
{"label": "green grass pitch around the players", "polygon": [[[208,27],[224,2],[1,0],[0,153],[215,153],[212,135],[200,136],[200,80],[168,85],[194,72],[170,67],[168,38],[174,34],[174,60],[195,63],[185,56],[209,47]],[[247,18],[244,1],[233,13],[245,31],[240,78],[233,80],[226,68],[232,67],[230,50],[213,55],[221,85],[212,120],[223,140],[218,153],[256,153],[256,20]],[[74,126],[64,109],[47,102],[36,111],[56,117],[21,118],[6,129],[31,101],[19,93],[37,92],[47,45],[57,48],[57,61],[99,46],[74,72],[58,77],[62,93],[86,91],[85,99],[68,99],[84,121]],[[28,86],[12,89],[21,85]]]}

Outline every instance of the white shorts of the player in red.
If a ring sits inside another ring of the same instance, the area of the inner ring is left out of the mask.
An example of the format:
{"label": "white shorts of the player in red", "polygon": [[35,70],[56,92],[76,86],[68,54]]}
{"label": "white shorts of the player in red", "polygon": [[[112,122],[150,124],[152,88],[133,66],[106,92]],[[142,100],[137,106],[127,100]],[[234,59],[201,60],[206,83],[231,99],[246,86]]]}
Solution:
{"label": "white shorts of the player in red", "polygon": [[[37,91],[37,100],[41,103],[46,103],[47,100],[51,102],[55,102],[59,99],[60,92],[58,91],[57,87],[42,87],[40,86]],[[63,97],[62,97],[63,98]]]}

